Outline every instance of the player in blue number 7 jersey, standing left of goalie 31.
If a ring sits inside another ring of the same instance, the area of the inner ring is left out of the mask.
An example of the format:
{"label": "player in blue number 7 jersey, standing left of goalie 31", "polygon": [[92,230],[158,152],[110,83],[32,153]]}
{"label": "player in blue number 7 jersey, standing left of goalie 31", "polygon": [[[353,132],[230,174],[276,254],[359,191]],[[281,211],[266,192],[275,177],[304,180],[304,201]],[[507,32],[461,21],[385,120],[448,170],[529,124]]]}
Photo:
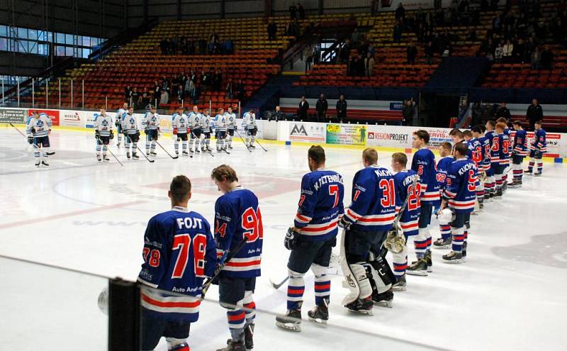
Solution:
{"label": "player in blue number 7 jersey, standing left of goalie 31", "polygon": [[310,320],[326,323],[329,318],[331,280],[327,275],[332,247],[336,244],[339,217],[344,213],[344,185],[340,174],[325,169],[325,150],[313,145],[308,151],[311,172],[301,179],[301,196],[293,227],[284,245],[291,250],[288,260],[288,302],[285,316],[276,318],[279,328],[301,331],[301,305],[305,273],[315,274],[315,308]]}

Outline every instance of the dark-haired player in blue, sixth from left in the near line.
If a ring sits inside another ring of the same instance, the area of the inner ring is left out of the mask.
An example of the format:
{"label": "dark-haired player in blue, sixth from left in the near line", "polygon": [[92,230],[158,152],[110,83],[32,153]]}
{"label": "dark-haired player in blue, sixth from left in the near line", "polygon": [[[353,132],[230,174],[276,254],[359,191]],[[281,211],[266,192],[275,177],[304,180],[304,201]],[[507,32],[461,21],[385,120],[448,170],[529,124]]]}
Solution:
{"label": "dark-haired player in blue, sixth from left in the near line", "polygon": [[421,211],[417,236],[413,240],[417,261],[407,269],[408,274],[426,276],[432,271],[431,233],[429,225],[433,206],[439,205],[439,184],[435,169],[435,156],[427,148],[430,134],[426,130],[417,130],[413,134],[413,147],[418,149],[412,158],[412,170],[420,176]]}

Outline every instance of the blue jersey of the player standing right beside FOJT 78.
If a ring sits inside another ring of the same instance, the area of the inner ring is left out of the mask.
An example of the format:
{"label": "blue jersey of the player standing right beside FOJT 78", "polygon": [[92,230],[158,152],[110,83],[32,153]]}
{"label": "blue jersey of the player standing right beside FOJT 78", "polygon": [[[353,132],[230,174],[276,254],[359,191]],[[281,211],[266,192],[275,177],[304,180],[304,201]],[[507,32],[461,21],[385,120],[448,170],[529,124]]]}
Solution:
{"label": "blue jersey of the player standing right beside FOJT 78", "polygon": [[244,239],[247,243],[223,267],[223,274],[240,278],[259,277],[264,242],[262,213],[257,196],[237,186],[220,196],[215,204],[217,256],[222,257],[226,250],[236,247]]}

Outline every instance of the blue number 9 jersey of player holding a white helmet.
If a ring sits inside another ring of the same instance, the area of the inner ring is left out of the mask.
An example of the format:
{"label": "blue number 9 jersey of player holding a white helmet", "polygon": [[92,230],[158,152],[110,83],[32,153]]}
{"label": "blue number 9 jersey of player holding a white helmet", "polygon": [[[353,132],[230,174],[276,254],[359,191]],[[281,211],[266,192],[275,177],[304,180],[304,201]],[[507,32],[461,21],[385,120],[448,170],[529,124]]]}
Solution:
{"label": "blue number 9 jersey of player holding a white helmet", "polygon": [[476,182],[478,170],[472,160],[461,158],[454,160],[447,169],[446,194],[449,194],[449,206],[456,212],[472,212],[476,200]]}

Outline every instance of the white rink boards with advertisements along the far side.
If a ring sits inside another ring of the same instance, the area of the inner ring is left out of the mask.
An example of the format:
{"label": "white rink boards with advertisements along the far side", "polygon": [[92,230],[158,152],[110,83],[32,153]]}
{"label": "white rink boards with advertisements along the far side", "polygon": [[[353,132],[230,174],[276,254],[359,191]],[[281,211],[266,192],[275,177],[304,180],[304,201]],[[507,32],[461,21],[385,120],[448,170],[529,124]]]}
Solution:
{"label": "white rink boards with advertisements along the far side", "polygon": [[[55,128],[72,130],[89,130],[98,111],[76,110],[41,110],[37,108],[0,108],[0,125],[9,123],[22,124],[32,111],[45,112],[50,116]],[[109,112],[112,117],[116,113]],[[141,113],[135,113],[138,122]],[[164,133],[172,131],[171,116],[162,115],[161,130]],[[242,129],[242,119],[237,120],[238,130]],[[381,126],[365,124],[313,123],[303,121],[265,121],[258,120],[257,138],[276,140],[286,145],[325,144],[330,147],[381,147],[386,150],[401,150],[412,152],[412,133],[417,129],[425,129],[430,133],[430,147],[437,149],[439,144],[451,142],[450,128]],[[533,133],[528,133],[532,138]],[[567,158],[567,133],[547,133],[548,153],[546,160],[563,163]]]}

